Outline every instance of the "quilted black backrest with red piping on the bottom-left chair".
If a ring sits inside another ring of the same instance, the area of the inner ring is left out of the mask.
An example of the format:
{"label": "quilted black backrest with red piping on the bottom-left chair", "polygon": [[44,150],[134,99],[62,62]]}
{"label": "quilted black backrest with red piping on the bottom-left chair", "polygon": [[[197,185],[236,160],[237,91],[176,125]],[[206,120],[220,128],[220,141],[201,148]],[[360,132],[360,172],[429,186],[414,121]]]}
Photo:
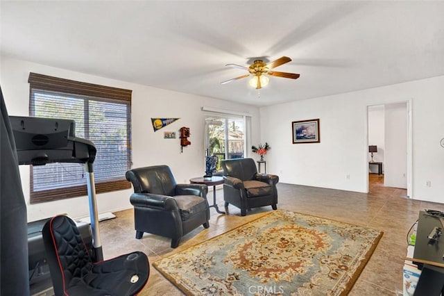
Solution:
{"label": "quilted black backrest with red piping on the bottom-left chair", "polygon": [[82,277],[92,269],[92,258],[76,223],[67,216],[59,215],[48,220],[42,236],[54,292],[64,295],[71,279]]}

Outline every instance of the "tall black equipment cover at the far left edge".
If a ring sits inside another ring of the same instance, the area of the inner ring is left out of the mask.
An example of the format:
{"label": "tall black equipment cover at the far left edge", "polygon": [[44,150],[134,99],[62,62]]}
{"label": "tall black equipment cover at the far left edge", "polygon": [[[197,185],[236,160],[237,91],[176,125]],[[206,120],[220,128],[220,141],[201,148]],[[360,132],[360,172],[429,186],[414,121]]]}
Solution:
{"label": "tall black equipment cover at the far left edge", "polygon": [[29,295],[28,226],[8,111],[1,92],[0,244],[1,295]]}

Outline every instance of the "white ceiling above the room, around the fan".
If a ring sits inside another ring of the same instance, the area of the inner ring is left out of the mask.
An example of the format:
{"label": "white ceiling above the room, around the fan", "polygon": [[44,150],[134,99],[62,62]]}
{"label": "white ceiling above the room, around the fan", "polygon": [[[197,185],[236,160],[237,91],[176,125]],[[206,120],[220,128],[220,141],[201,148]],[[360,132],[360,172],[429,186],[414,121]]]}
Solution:
{"label": "white ceiling above the room, around the fan", "polygon": [[[444,75],[444,1],[3,1],[1,54],[266,106]],[[227,63],[281,56],[260,90]]]}

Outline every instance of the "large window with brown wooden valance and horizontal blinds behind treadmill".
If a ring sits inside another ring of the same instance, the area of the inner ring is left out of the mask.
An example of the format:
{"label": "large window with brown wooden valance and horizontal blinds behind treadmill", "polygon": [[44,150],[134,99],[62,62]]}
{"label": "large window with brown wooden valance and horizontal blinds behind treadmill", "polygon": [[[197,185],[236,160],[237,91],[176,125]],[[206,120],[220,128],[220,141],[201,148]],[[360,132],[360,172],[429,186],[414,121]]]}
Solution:
{"label": "large window with brown wooden valance and horizontal blinds behind treadmill", "polygon": [[[29,114],[74,120],[76,137],[94,143],[96,192],[130,188],[131,90],[110,88],[31,73]],[[85,168],[79,163],[31,167],[31,204],[87,195]]]}

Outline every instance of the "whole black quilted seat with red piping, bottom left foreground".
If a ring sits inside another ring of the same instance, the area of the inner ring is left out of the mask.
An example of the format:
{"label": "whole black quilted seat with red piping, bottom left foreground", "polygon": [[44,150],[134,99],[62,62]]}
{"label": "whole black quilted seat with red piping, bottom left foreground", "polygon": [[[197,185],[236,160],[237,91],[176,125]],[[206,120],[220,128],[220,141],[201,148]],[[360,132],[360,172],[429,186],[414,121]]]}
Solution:
{"label": "whole black quilted seat with red piping, bottom left foreground", "polygon": [[52,217],[42,236],[56,295],[136,295],[148,281],[148,257],[133,252],[94,263],[76,224]]}

